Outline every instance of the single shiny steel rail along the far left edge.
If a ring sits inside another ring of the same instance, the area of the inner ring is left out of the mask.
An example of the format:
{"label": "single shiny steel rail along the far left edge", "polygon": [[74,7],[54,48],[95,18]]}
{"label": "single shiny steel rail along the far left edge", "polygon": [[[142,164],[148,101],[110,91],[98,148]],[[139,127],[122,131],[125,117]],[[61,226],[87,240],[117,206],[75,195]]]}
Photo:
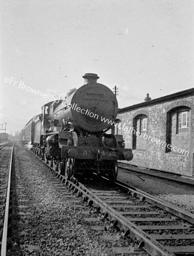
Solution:
{"label": "single shiny steel rail along the far left edge", "polygon": [[[14,144],[15,144],[15,142],[14,142]],[[5,217],[4,217],[4,224],[3,224],[1,256],[6,256],[6,253],[7,253],[7,229],[8,229],[9,206],[10,206],[11,170],[12,170],[12,159],[13,159],[13,152],[14,152],[14,144],[13,144],[12,150],[11,150],[9,179],[8,179],[8,184],[7,184],[7,196],[6,196],[6,208],[5,208]]]}

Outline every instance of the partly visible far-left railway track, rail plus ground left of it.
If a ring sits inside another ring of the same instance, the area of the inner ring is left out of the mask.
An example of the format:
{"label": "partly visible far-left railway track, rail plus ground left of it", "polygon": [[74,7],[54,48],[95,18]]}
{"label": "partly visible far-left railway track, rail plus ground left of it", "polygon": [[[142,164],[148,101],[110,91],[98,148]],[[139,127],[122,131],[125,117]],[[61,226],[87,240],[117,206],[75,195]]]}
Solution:
{"label": "partly visible far-left railway track, rail plus ground left of it", "polygon": [[8,142],[0,147],[0,163],[1,163],[1,256],[6,255],[7,248],[7,229],[10,207],[10,188],[11,188],[11,170],[14,152],[14,143]]}

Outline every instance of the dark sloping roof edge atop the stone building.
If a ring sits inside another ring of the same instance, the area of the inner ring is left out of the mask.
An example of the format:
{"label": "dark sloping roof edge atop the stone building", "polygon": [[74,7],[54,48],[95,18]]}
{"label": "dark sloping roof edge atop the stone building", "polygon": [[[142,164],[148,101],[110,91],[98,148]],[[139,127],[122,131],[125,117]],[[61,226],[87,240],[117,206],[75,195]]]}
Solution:
{"label": "dark sloping roof edge atop the stone building", "polygon": [[120,112],[125,112],[127,110],[132,110],[132,109],[136,109],[136,108],[142,108],[144,106],[149,106],[149,105],[155,105],[155,104],[159,104],[162,101],[171,101],[171,100],[177,100],[178,98],[182,98],[185,96],[194,96],[194,88],[191,89],[187,89],[187,90],[182,90],[182,92],[177,92],[177,93],[173,93],[173,94],[169,94],[167,96],[163,96],[160,98],[155,98],[154,100],[150,100],[150,101],[145,101],[145,102],[141,102],[132,106],[128,106],[125,108],[121,108],[119,109],[119,113]]}

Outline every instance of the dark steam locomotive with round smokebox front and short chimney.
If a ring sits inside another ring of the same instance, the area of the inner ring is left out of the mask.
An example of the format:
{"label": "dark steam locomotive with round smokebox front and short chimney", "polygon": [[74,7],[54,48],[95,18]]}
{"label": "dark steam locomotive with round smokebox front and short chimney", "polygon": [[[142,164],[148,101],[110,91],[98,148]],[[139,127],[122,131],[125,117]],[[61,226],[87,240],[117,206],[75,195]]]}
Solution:
{"label": "dark steam locomotive with round smokebox front and short chimney", "polygon": [[98,75],[86,73],[85,84],[70,89],[64,100],[51,101],[20,133],[33,152],[59,174],[90,176],[93,172],[115,180],[117,160],[132,160],[123,135],[110,133],[116,126],[115,94],[99,84]]}

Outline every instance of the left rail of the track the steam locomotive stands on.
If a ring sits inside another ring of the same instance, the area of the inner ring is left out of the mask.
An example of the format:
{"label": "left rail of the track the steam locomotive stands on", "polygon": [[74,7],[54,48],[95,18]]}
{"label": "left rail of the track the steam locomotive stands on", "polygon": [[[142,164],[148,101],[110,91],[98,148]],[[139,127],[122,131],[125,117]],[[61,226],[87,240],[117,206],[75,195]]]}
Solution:
{"label": "left rail of the track the steam locomotive stands on", "polygon": [[101,200],[98,196],[92,193],[85,187],[85,185],[79,183],[77,179],[73,177],[71,181],[66,180],[64,175],[58,174],[58,172],[54,171],[52,167],[44,162],[44,160],[41,160],[38,156],[37,158],[41,163],[43,163],[45,167],[47,167],[47,170],[56,175],[62,182],[65,183],[66,186],[69,187],[69,189],[74,189],[74,192],[77,193],[78,196],[82,196],[83,200],[88,202],[88,205],[93,205],[94,207],[98,208],[100,212],[104,213],[104,217],[108,217],[109,220],[112,220],[114,224],[117,225],[122,231],[124,231],[126,235],[129,234],[129,236],[134,241],[138,242],[139,247],[147,251],[147,253],[149,253],[151,256],[175,255],[167,251],[164,246],[147,235],[143,230],[138,228],[138,226],[126,220],[124,216],[122,216],[119,212],[117,212],[115,209]]}

